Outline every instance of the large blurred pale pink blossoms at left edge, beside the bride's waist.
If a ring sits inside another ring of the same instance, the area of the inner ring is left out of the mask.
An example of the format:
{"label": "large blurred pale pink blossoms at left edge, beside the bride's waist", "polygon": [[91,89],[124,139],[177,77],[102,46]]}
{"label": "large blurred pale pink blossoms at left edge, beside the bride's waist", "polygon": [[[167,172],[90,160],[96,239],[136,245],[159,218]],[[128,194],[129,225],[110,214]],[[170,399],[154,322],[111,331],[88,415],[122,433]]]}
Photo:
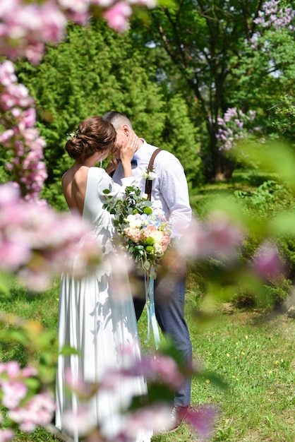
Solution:
{"label": "large blurred pale pink blossoms at left edge, beside the bride's waist", "polygon": [[89,261],[99,260],[100,249],[93,247],[88,232],[79,215],[24,201],[17,184],[0,186],[0,270],[17,273],[29,287],[44,288],[52,273],[60,273],[66,258],[71,267],[73,252],[80,272]]}

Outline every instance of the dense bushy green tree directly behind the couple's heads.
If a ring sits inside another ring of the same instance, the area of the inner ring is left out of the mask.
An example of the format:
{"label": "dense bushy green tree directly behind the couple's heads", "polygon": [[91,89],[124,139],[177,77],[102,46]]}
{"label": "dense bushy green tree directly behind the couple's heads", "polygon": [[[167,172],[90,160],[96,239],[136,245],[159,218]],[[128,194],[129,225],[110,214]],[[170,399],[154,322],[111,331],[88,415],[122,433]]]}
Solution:
{"label": "dense bushy green tree directly behind the couple's heads", "polygon": [[70,25],[66,40],[48,47],[40,66],[18,64],[18,77],[35,97],[38,126],[47,141],[45,196],[62,208],[56,181],[71,164],[64,153],[66,133],[91,114],[108,110],[124,112],[139,136],[179,154],[190,185],[200,181],[199,145],[188,107],[178,95],[165,97],[147,48],[133,46],[130,35],[119,35],[97,19],[87,28]]}

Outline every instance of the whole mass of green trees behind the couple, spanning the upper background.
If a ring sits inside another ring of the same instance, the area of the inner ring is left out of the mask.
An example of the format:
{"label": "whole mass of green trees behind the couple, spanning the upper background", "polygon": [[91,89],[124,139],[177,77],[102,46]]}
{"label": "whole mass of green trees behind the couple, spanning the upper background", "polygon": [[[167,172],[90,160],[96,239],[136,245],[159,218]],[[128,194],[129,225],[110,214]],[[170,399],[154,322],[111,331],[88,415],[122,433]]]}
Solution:
{"label": "whole mass of green trees behind the couple, spanning the upper background", "polygon": [[255,110],[262,133],[293,135],[285,110],[294,94],[294,33],[255,24],[262,6],[260,0],[175,1],[135,15],[124,35],[101,19],[88,28],[69,25],[66,40],[48,47],[40,66],[18,64],[47,141],[44,196],[63,205],[52,184],[71,163],[66,133],[109,109],[124,112],[139,136],[179,157],[190,189],[203,173],[231,176],[236,162],[224,157],[216,138],[228,108]]}

